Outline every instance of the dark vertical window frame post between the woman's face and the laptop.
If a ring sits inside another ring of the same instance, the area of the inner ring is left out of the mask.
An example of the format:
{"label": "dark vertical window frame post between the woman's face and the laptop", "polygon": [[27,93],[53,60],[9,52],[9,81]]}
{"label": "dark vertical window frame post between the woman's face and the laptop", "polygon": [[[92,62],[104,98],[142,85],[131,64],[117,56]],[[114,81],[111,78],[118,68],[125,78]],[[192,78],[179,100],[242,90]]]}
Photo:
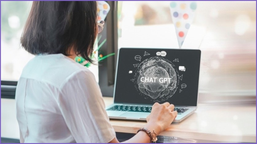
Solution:
{"label": "dark vertical window frame post between the woman's face and the laptop", "polygon": [[111,9],[106,17],[106,28],[102,31],[102,35],[107,38],[107,41],[102,46],[100,52],[104,54],[115,53],[115,55],[99,63],[99,87],[103,96],[113,97],[118,54],[118,2],[107,1],[107,3],[110,5]]}

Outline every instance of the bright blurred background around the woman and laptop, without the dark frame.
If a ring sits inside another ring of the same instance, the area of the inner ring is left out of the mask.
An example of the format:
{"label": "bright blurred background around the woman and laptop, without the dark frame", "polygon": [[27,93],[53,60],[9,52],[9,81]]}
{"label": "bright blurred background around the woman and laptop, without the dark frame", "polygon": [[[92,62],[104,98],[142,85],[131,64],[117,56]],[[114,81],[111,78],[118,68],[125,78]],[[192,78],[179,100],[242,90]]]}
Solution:
{"label": "bright blurred background around the woman and laptop, without the dark frame", "polygon": [[[117,4],[118,49],[178,48],[170,1]],[[31,5],[1,1],[1,80],[17,81],[34,57],[20,45]],[[182,49],[202,51],[200,102],[256,102],[256,1],[198,1]],[[91,70],[98,81],[98,66]],[[1,98],[1,137],[19,138],[17,127],[14,99]]]}

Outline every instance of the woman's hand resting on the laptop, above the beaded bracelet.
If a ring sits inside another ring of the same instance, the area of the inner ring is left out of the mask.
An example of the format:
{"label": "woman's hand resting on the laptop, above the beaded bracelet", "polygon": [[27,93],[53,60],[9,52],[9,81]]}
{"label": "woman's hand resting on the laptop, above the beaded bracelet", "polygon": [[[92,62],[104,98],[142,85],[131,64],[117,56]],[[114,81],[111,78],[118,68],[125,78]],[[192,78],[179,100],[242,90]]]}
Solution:
{"label": "woman's hand resting on the laptop, above the beaded bracelet", "polygon": [[174,105],[165,102],[163,104],[154,103],[151,113],[146,117],[147,124],[145,128],[159,135],[164,131],[177,117],[177,111],[174,111]]}

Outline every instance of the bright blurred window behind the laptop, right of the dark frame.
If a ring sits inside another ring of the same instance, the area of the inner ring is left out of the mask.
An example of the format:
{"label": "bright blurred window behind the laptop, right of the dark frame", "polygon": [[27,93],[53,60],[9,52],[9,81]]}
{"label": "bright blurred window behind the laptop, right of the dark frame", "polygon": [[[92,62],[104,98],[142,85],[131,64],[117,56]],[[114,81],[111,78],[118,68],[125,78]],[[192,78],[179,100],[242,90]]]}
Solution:
{"label": "bright blurred window behind the laptop, right of the dark frame", "polygon": [[[169,1],[119,1],[118,48],[178,48]],[[197,2],[182,49],[200,49],[199,93],[256,96],[256,2]]]}

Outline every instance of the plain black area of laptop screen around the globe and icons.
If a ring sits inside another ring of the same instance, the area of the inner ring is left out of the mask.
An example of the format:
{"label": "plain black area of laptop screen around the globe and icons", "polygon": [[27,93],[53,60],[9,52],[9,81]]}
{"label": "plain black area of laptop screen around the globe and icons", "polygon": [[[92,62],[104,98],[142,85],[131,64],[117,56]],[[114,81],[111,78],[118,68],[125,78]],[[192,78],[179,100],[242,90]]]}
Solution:
{"label": "plain black area of laptop screen around the globe and icons", "polygon": [[[144,56],[145,51],[150,55]],[[165,57],[157,56],[157,52],[165,51]],[[135,56],[140,55],[141,61],[135,60]],[[119,49],[118,68],[115,83],[115,102],[116,103],[138,103],[138,104],[154,104],[155,102],[143,98],[135,88],[135,84],[131,82],[133,79],[136,67],[133,64],[140,64],[150,57],[162,57],[171,61],[179,75],[183,75],[182,80],[179,80],[179,85],[176,92],[171,98],[163,102],[169,102],[174,105],[197,106],[198,81],[200,69],[200,50],[185,50],[185,49],[144,49],[144,48],[121,48]],[[174,59],[179,62],[173,62]],[[185,66],[185,72],[179,71],[179,66]],[[129,73],[132,71],[133,73]],[[185,83],[186,88],[181,89],[181,84]],[[180,92],[180,89],[182,90]]]}

